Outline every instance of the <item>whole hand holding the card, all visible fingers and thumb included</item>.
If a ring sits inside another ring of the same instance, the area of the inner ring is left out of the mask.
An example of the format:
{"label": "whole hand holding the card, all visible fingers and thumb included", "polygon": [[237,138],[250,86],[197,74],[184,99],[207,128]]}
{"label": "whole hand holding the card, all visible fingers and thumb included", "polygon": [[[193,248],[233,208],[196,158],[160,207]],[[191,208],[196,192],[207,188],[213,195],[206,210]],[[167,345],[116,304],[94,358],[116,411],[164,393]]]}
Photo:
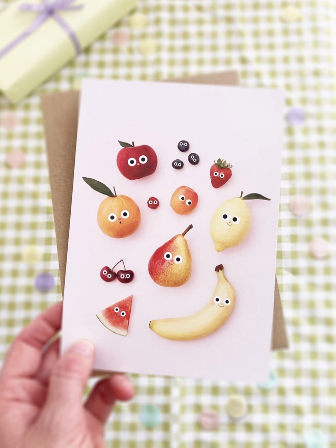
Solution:
{"label": "whole hand holding the card, all visible fingers and thumb included", "polygon": [[[1,448],[105,448],[104,425],[117,400],[134,396],[123,374],[96,383],[86,402],[95,348],[78,341],[59,357],[62,303],[24,328],[0,373]],[[47,347],[47,348],[46,348]]]}

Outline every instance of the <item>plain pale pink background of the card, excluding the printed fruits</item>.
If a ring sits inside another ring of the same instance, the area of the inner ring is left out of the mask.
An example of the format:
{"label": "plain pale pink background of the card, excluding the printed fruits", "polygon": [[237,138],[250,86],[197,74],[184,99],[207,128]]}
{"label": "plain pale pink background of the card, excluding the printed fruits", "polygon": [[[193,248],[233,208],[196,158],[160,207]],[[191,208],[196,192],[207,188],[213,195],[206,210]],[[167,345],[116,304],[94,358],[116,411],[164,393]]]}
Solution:
{"label": "plain pale pink background of the card, excluding the printed fruits", "polygon": [[[96,346],[95,368],[159,375],[263,381],[268,377],[274,301],[278,202],[281,177],[283,93],[276,90],[197,86],[173,83],[85,80],[81,94],[68,261],[65,282],[64,351],[75,340]],[[190,150],[177,143],[186,139]],[[118,140],[148,144],[158,155],[154,175],[129,181],[118,171]],[[187,156],[196,152],[199,165]],[[233,164],[233,176],[214,189],[209,169],[214,159]],[[171,163],[180,158],[184,169]],[[97,225],[104,196],[82,176],[129,195],[142,213],[139,229],[113,239]],[[173,191],[188,185],[199,194],[190,215],[170,207]],[[246,239],[222,253],[209,232],[216,207],[234,196],[258,192],[271,201],[248,201],[252,226]],[[160,207],[147,207],[150,196]],[[174,235],[186,235],[193,266],[189,282],[162,288],[151,280],[147,264],[154,250]],[[104,265],[121,258],[135,272],[134,281],[105,283]],[[149,321],[180,317],[200,310],[217,283],[214,268],[222,263],[236,291],[229,320],[207,338],[174,342],[149,329]],[[107,330],[96,313],[133,294],[127,337]]]}

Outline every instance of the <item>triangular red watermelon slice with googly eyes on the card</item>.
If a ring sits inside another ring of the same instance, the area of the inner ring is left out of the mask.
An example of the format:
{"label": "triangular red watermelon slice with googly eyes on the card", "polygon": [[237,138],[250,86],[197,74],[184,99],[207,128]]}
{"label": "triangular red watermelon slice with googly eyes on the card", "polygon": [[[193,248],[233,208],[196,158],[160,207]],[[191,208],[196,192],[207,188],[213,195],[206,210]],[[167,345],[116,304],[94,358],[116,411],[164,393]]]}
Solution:
{"label": "triangular red watermelon slice with googly eyes on the card", "polygon": [[132,310],[133,295],[120,300],[96,314],[100,322],[110,331],[127,336],[129,318]]}

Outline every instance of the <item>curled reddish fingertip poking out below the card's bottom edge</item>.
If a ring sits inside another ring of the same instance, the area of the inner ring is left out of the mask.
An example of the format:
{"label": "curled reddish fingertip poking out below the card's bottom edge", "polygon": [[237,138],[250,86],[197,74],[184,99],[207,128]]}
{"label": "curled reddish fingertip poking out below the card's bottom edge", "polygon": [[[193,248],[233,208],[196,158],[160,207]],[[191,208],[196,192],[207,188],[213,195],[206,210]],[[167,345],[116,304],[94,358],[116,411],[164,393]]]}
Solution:
{"label": "curled reddish fingertip poking out below the card's bottom edge", "polygon": [[133,397],[131,380],[125,375],[115,374],[95,385],[85,407],[99,421],[105,423],[116,400],[126,401]]}

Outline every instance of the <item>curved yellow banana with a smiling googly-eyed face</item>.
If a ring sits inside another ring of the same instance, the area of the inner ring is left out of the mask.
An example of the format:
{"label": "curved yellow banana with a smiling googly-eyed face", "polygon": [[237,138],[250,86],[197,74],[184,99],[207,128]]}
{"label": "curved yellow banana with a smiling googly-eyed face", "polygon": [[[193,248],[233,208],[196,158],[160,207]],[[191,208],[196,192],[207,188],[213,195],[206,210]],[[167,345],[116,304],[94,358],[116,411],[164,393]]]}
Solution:
{"label": "curved yellow banana with a smiling googly-eyed face", "polygon": [[215,267],[215,272],[217,286],[202,310],[187,317],[152,320],[149,328],[171,341],[193,341],[217,331],[231,315],[236,294],[224,275],[222,264]]}

